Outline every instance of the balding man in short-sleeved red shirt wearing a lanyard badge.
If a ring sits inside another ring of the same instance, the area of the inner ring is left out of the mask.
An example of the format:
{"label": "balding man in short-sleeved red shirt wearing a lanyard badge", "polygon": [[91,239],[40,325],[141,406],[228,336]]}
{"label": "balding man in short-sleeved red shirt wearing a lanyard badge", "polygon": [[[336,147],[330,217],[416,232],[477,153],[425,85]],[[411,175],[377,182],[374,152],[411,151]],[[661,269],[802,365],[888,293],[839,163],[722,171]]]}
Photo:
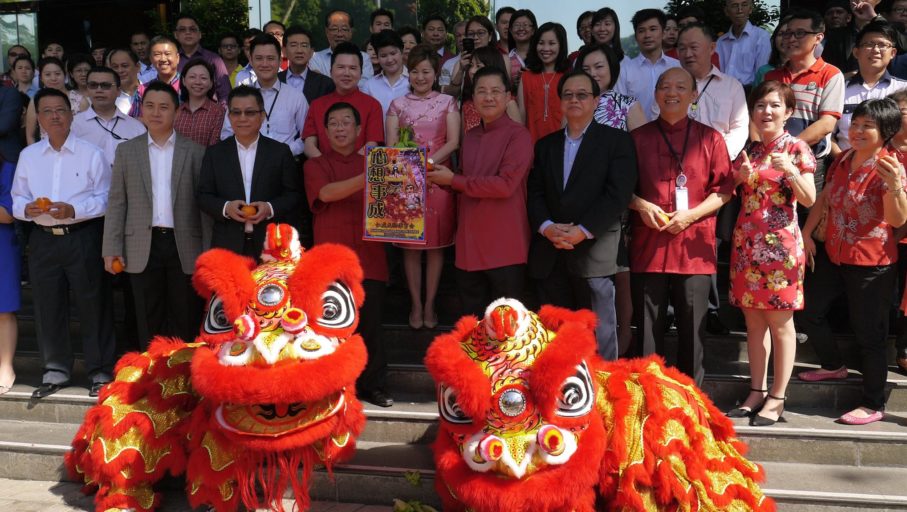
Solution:
{"label": "balding man in short-sleeved red shirt wearing a lanyard badge", "polygon": [[709,274],[716,271],[715,212],[734,191],[721,134],[687,117],[696,81],[682,68],[658,78],[658,119],[634,130],[639,181],[630,202],[633,308],[643,353],[665,354],[668,303],[677,319],[677,367],[702,382]]}

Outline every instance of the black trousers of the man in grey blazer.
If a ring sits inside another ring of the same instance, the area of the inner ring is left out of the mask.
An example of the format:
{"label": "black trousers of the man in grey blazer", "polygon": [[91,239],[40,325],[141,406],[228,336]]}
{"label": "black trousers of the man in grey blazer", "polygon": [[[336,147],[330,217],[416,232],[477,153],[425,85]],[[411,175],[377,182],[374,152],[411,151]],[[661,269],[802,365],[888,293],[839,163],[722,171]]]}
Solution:
{"label": "black trousers of the man in grey blazer", "polygon": [[202,300],[183,273],[173,231],[152,229],[151,252],[145,270],[130,274],[136,328],[142,350],[157,335],[176,336],[189,343],[199,334]]}

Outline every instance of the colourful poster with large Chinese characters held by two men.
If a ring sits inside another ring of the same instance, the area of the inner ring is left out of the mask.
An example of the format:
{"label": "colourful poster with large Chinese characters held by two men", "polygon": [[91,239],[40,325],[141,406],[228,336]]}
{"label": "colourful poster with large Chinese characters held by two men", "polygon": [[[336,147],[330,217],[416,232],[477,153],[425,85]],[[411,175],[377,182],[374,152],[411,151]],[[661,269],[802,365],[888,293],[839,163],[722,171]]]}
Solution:
{"label": "colourful poster with large Chinese characters held by two men", "polygon": [[425,148],[367,148],[365,240],[425,243],[425,162]]}

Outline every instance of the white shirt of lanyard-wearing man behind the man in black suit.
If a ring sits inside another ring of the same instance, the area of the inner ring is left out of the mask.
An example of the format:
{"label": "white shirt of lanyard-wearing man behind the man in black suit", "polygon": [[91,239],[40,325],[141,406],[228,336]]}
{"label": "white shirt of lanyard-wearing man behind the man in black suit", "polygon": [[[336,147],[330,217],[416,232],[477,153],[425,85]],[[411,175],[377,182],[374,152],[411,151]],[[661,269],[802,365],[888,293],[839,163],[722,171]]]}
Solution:
{"label": "white shirt of lanyard-wearing man behind the man in black suit", "polygon": [[[305,127],[306,114],[309,111],[309,102],[306,101],[305,95],[280,80],[274,80],[271,87],[264,89],[257,81],[252,87],[261,89],[265,101],[266,120],[261,124],[261,134],[290,146],[294,156],[301,155],[305,149],[305,140],[300,138],[299,134]],[[230,116],[224,115],[224,127],[221,129],[220,138],[226,139],[231,135],[233,127],[230,125]]]}

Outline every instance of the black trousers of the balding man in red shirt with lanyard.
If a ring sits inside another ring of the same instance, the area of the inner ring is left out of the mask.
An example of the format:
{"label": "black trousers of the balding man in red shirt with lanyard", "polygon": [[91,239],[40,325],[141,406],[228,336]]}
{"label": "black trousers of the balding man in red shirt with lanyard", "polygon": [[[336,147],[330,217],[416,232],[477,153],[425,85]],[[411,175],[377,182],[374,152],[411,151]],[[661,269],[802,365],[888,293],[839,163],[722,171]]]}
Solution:
{"label": "black trousers of the balding man in red shirt with lanyard", "polygon": [[677,325],[677,368],[702,384],[702,340],[708,313],[708,274],[633,273],[630,288],[636,315],[636,333],[643,355],[664,356],[668,303],[674,305]]}

